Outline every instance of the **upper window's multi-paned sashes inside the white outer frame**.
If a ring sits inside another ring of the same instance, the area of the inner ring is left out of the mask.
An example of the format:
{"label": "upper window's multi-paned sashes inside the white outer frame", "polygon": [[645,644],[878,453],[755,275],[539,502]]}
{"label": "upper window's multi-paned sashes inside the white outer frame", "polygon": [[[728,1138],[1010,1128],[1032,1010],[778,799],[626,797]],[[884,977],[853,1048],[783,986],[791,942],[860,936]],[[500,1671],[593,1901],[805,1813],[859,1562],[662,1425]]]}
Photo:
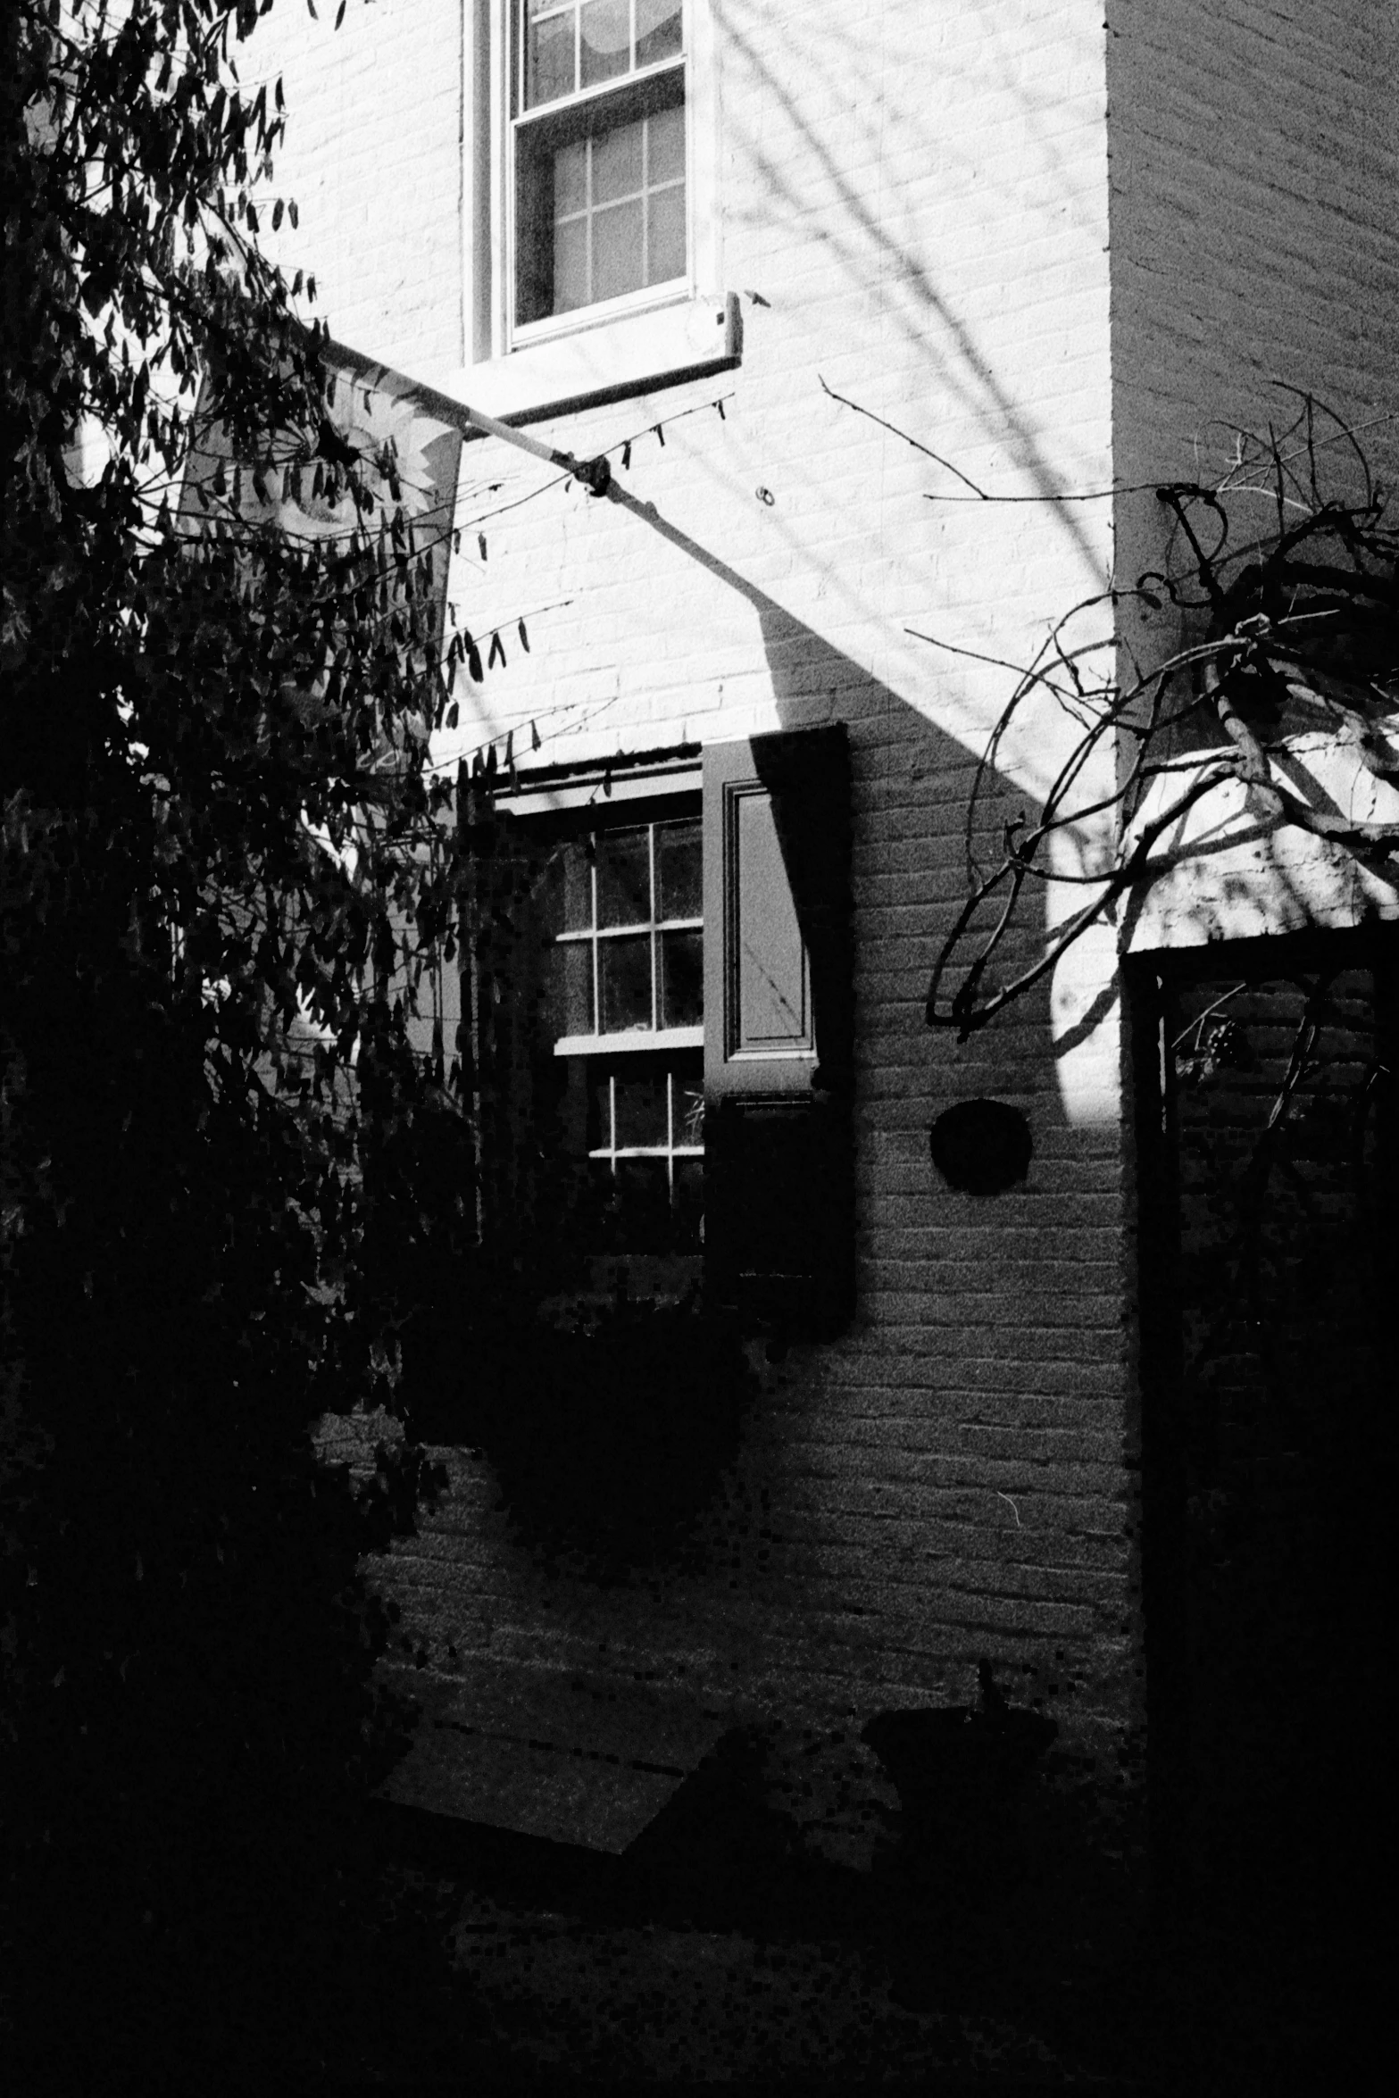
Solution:
{"label": "upper window's multi-paned sashes inside the white outer frame", "polygon": [[514,0],[514,323],[690,275],[682,0]]}

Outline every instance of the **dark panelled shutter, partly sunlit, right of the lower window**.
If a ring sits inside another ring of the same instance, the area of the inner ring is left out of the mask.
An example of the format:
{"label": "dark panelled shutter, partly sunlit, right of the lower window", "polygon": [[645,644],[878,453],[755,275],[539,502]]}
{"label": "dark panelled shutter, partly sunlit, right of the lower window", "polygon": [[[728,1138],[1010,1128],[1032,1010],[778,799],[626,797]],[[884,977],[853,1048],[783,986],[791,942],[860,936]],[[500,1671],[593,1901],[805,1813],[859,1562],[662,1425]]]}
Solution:
{"label": "dark panelled shutter, partly sunlit, right of the lower window", "polygon": [[843,728],[705,751],[705,1276],[793,1334],[852,1311]]}

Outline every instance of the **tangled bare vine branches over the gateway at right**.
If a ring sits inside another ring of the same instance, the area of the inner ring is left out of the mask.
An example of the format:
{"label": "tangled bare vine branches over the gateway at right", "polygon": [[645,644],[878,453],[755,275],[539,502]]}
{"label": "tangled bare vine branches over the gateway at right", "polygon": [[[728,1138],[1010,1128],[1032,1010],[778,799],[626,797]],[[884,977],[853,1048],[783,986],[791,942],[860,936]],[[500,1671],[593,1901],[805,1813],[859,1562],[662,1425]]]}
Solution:
{"label": "tangled bare vine branches over the gateway at right", "polygon": [[[1309,392],[1286,428],[1231,432],[1231,455],[1217,483],[1156,487],[1179,543],[1179,562],[1143,575],[1135,590],[1084,598],[1051,627],[1026,665],[906,631],[929,646],[994,663],[1015,676],[982,751],[965,812],[967,898],[942,940],[927,992],[927,1024],[956,1028],[965,1041],[1051,973],[1070,946],[1141,894],[1189,848],[1156,856],[1162,835],[1206,793],[1233,780],[1252,814],[1292,827],[1355,860],[1399,871],[1399,820],[1368,820],[1311,799],[1284,776],[1288,736],[1298,730],[1349,745],[1372,778],[1399,783],[1399,531],[1378,489],[1359,434]],[[870,415],[826,388],[831,399]],[[1055,501],[1070,497],[994,497],[917,438],[879,415],[938,466],[956,472],[980,501]],[[1351,485],[1342,468],[1353,468]],[[1082,497],[1126,491],[1089,491]],[[1267,497],[1267,531],[1240,529],[1240,501]],[[1181,640],[1152,665],[1120,669],[1114,631],[1074,640],[1074,625],[1126,602],[1175,613]],[[1030,701],[1049,701],[1078,730],[1038,814],[1026,810],[988,822],[988,795],[1003,774],[1000,753]],[[1101,757],[1128,762],[1101,785]],[[1143,820],[1143,797],[1181,772],[1183,791]],[[1084,866],[1091,833],[1112,833],[1099,864]],[[984,860],[986,837],[1000,845]],[[1076,854],[1059,850],[1072,843]],[[1078,856],[1078,864],[1066,864]],[[1034,877],[1034,881],[1032,881]],[[996,963],[1024,925],[1030,885],[1070,883],[1091,898],[1007,980]]]}

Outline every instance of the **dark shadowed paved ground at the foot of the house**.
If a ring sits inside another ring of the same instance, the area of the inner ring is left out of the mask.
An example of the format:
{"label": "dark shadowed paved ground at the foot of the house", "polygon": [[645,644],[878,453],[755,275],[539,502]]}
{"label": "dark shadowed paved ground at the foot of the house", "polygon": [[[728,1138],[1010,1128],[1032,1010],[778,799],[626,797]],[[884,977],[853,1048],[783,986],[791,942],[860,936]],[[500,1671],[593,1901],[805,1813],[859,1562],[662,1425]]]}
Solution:
{"label": "dark shadowed paved ground at the foot of the house", "polygon": [[732,1882],[705,1915],[694,1888],[667,1903],[621,1861],[457,1825],[445,1865],[436,1817],[417,1838],[438,1855],[424,1867],[407,1844],[399,1869],[440,1897],[470,2035],[440,2088],[1311,2098],[1370,2081],[1359,2012],[1384,2001],[1380,1955],[1363,1970],[1355,1932],[1328,1920],[1284,1918],[1265,1941],[1202,1915],[1166,1945],[1084,1934],[1084,1913],[1047,1909],[1034,1884],[959,1913],[868,1878],[843,1911],[810,1886],[793,1909],[791,1886],[770,1886],[726,1920]]}

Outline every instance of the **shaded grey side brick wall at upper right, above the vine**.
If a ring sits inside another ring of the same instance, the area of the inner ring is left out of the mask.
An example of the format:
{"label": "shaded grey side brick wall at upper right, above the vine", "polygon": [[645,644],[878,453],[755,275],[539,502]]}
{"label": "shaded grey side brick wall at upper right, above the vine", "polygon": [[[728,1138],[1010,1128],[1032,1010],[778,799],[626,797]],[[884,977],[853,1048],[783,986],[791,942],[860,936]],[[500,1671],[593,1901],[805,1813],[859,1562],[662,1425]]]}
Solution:
{"label": "shaded grey side brick wall at upper right, above the vine", "polygon": [[1110,0],[1124,583],[1162,560],[1160,480],[1223,470],[1229,426],[1292,420],[1275,380],[1328,401],[1393,485],[1397,71],[1399,19],[1370,0]]}

